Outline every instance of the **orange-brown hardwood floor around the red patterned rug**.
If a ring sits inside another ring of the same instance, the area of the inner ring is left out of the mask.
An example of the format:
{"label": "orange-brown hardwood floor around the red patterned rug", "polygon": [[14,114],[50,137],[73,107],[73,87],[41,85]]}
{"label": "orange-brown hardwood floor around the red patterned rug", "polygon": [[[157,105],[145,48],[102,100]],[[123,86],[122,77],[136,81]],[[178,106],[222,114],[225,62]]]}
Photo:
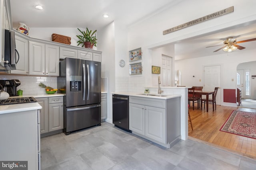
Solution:
{"label": "orange-brown hardwood floor around the red patterned rug", "polygon": [[256,112],[256,109],[246,109],[228,106],[218,106],[212,111],[212,105],[209,105],[209,112],[206,109],[197,109],[197,104],[189,108],[193,125],[188,126],[188,136],[202,141],[233,150],[250,158],[256,159],[256,139],[242,137],[231,133],[220,131],[223,123],[228,119],[233,110],[243,110]]}

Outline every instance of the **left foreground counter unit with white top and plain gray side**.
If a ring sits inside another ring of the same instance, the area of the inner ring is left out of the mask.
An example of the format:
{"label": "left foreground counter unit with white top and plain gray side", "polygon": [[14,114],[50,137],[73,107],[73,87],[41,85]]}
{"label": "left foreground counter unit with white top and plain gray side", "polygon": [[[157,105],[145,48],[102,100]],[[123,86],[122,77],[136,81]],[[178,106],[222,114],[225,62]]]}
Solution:
{"label": "left foreground counter unit with white top and plain gray side", "polygon": [[0,160],[26,160],[29,169],[40,169],[41,108],[37,102],[0,106]]}

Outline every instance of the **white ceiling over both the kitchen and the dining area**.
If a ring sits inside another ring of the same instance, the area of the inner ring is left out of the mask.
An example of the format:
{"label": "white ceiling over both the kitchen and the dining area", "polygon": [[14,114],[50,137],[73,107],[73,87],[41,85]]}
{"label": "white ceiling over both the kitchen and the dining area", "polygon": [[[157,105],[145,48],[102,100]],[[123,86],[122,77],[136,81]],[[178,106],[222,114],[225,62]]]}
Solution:
{"label": "white ceiling over both the kitchen and the dining area", "polygon": [[[126,25],[137,23],[143,18],[150,17],[158,12],[173,6],[181,0],[10,0],[12,22],[14,28],[19,22],[26,23],[29,27],[88,27],[99,29],[114,20],[122,21]],[[43,6],[43,10],[34,8]],[[108,14],[109,18],[103,18]],[[175,43],[175,59],[187,59],[191,57],[204,57],[227,53],[222,50],[213,53],[222,45],[228,37],[234,37],[237,41],[256,38],[256,21],[230,27],[218,32],[208,33],[190,39],[184,39]],[[240,43],[246,49],[256,49],[256,41]],[[193,54],[193,55],[191,55]]]}

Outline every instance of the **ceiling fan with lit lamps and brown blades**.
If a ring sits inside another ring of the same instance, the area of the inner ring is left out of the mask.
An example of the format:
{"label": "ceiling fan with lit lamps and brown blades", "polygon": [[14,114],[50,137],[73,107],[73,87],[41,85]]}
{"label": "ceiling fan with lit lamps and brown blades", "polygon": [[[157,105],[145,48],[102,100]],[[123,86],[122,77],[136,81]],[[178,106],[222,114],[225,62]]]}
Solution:
{"label": "ceiling fan with lit lamps and brown blades", "polygon": [[[223,51],[227,51],[227,52],[232,52],[236,49],[242,50],[242,49],[245,49],[245,47],[242,47],[242,46],[237,45],[237,44],[238,43],[245,43],[245,42],[248,42],[248,41],[256,41],[256,38],[246,39],[246,40],[243,40],[243,41],[236,41],[236,38],[229,37],[225,41],[223,41],[223,44],[224,44],[223,47],[221,47],[219,49],[216,49],[214,52],[217,52],[221,49],[223,49]],[[216,46],[220,46],[220,45],[214,45],[214,46],[209,46],[209,47],[216,47]],[[208,48],[208,47],[206,47],[206,48]]]}

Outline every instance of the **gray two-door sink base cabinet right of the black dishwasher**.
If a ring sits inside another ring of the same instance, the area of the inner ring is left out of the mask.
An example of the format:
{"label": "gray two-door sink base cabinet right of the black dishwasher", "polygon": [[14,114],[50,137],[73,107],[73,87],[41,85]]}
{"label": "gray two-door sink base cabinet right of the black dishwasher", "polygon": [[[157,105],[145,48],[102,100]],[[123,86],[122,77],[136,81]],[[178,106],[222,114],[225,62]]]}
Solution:
{"label": "gray two-door sink base cabinet right of the black dishwasher", "polygon": [[132,133],[170,148],[180,140],[180,98],[129,98]]}

